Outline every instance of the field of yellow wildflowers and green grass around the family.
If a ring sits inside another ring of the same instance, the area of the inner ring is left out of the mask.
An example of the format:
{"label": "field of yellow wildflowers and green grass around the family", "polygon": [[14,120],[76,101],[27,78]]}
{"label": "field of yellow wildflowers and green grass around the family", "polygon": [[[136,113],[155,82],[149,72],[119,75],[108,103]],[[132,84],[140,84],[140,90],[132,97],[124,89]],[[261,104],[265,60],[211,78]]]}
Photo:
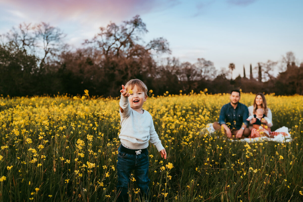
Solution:
{"label": "field of yellow wildflowers and green grass around the family", "polygon": [[[289,143],[243,143],[202,129],[229,94],[149,96],[168,153],[149,146],[152,201],[303,201],[303,96],[266,95]],[[250,106],[254,94],[242,93]],[[119,98],[0,97],[0,201],[114,201]],[[129,197],[138,199],[135,176]]]}

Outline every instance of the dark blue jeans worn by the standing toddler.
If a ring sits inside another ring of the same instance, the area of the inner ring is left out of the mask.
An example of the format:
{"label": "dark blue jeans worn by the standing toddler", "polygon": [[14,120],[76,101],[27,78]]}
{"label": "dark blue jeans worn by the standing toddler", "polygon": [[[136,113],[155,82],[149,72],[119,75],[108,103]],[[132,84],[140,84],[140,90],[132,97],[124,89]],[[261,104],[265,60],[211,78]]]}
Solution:
{"label": "dark blue jeans worn by the standing toddler", "polygon": [[117,173],[118,173],[118,199],[117,201],[128,201],[128,187],[130,184],[130,175],[135,170],[136,183],[142,196],[148,197],[148,150],[144,153],[135,155],[128,154],[118,149]]}

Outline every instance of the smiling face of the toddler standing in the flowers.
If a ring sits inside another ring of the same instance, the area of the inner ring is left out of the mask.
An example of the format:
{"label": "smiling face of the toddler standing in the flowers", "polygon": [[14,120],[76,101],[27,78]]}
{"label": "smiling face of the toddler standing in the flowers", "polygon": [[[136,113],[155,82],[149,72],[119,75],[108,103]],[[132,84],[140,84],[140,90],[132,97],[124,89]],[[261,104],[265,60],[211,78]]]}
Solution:
{"label": "smiling face of the toddler standing in the flowers", "polygon": [[138,87],[135,85],[132,89],[132,94],[130,94],[128,97],[128,102],[133,109],[140,113],[142,112],[142,106],[146,99],[147,95],[145,95],[144,91],[138,89]]}

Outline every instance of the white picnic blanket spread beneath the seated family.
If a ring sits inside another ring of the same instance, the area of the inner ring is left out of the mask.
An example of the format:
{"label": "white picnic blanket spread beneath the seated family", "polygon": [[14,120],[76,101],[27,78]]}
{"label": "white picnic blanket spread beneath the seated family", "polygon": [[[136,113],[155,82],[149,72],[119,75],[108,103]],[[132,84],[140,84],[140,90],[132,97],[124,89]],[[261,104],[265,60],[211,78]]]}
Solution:
{"label": "white picnic blanket spread beneath the seated family", "polygon": [[[212,126],[212,123],[208,123],[206,125],[205,129],[209,133],[215,132],[215,129]],[[257,141],[275,141],[275,142],[284,143],[284,142],[291,142],[292,141],[291,135],[288,132],[288,127],[283,126],[281,128],[278,128],[277,130],[275,130],[275,132],[278,132],[280,134],[274,136],[274,138],[269,138],[269,137],[264,136],[264,137],[256,137],[256,138],[244,138],[244,139],[239,139],[239,140],[231,139],[231,141],[241,141],[241,142],[248,142],[248,143],[257,142]],[[284,136],[283,133],[284,134],[286,133],[286,135]]]}

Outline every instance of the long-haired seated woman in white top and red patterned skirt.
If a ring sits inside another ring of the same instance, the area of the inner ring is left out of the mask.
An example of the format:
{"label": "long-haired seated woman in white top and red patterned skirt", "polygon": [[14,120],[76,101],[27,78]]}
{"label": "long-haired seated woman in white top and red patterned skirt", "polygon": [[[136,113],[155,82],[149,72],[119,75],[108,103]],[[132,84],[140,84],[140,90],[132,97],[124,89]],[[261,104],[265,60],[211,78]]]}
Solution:
{"label": "long-haired seated woman in white top and red patterned skirt", "polygon": [[261,124],[263,124],[264,128],[259,130],[259,129],[252,127],[252,124],[254,124],[257,121],[256,118],[252,118],[250,121],[251,125],[249,126],[249,129],[251,129],[251,135],[249,136],[250,138],[263,136],[262,133],[264,133],[265,131],[270,132],[270,127],[272,126],[271,110],[269,108],[267,108],[266,99],[265,99],[265,96],[263,95],[263,93],[257,93],[255,100],[254,100],[254,105],[248,107],[249,116],[253,116],[254,114],[256,114],[257,109],[263,109],[264,115],[268,118],[269,121],[267,121],[267,119],[262,119]]}

